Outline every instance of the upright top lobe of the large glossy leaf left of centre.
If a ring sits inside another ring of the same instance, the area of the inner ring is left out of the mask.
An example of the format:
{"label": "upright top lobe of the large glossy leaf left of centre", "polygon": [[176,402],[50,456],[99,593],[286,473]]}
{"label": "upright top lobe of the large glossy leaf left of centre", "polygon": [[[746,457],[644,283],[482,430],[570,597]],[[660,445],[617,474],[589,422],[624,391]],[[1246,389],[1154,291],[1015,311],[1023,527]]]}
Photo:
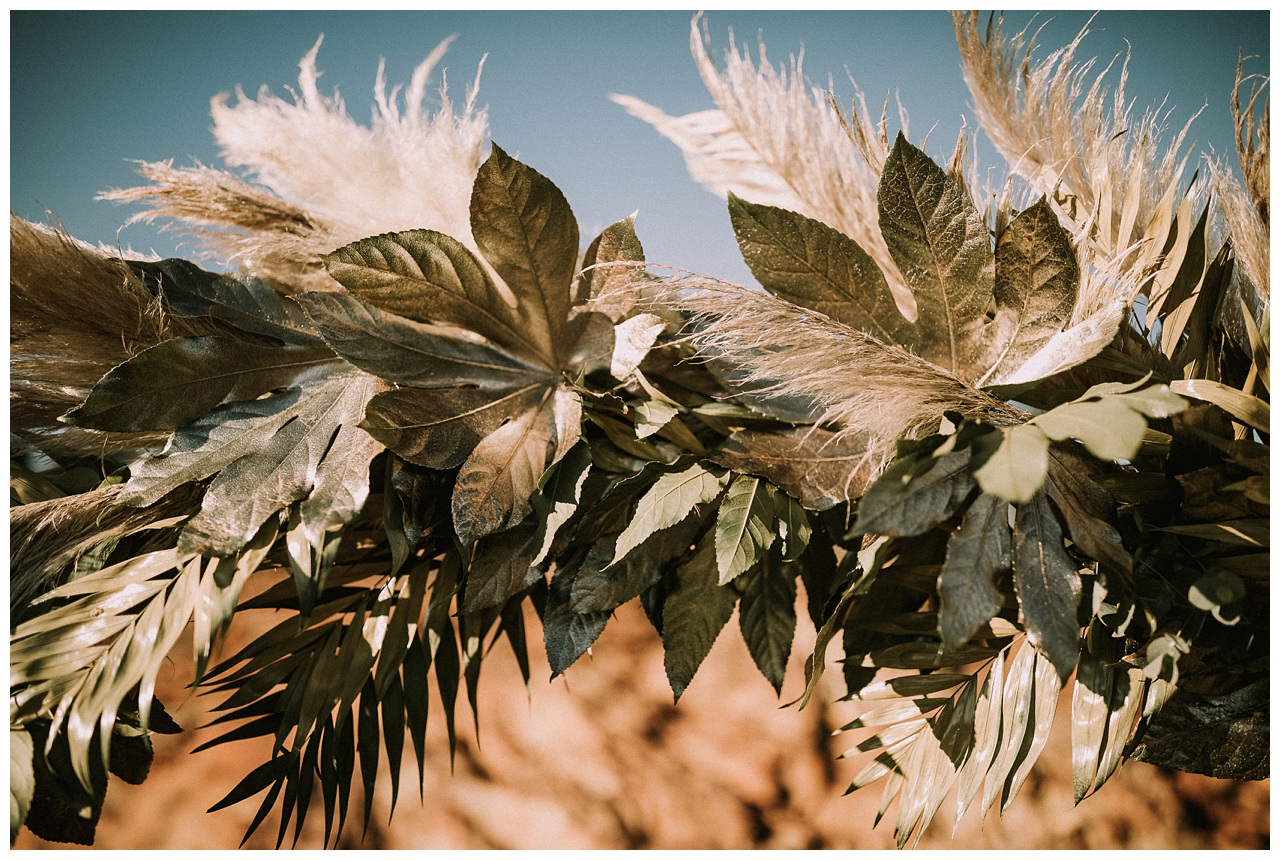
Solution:
{"label": "upright top lobe of the large glossy leaf left of centre", "polygon": [[570,344],[558,343],[554,328],[568,317],[573,302],[586,298],[585,283],[570,293],[577,265],[577,221],[564,195],[550,179],[516,161],[498,145],[471,192],[471,233],[498,276],[516,294],[521,319],[539,354],[563,366]]}

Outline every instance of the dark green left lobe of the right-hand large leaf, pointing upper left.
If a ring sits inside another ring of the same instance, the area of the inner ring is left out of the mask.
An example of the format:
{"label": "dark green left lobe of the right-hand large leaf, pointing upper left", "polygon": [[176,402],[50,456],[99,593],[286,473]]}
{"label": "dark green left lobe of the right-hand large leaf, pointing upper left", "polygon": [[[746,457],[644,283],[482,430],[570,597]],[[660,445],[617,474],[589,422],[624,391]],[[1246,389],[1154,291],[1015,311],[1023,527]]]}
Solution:
{"label": "dark green left lobe of the right-hand large leaf, pointing upper left", "polygon": [[728,214],[742,260],[767,291],[884,343],[915,343],[915,329],[893,301],[884,274],[847,235],[732,192]]}

